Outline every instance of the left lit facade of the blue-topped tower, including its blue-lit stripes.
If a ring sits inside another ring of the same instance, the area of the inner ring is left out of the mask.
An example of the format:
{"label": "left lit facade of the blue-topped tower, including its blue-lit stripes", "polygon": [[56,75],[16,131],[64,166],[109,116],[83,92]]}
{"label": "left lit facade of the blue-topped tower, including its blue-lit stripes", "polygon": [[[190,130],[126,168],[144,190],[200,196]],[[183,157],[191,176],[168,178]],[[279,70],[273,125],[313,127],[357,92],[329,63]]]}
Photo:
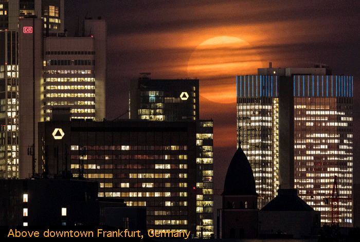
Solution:
{"label": "left lit facade of the blue-topped tower, including its blue-lit stripes", "polygon": [[264,207],[279,189],[279,104],[276,76],[238,76],[238,143],[247,156]]}

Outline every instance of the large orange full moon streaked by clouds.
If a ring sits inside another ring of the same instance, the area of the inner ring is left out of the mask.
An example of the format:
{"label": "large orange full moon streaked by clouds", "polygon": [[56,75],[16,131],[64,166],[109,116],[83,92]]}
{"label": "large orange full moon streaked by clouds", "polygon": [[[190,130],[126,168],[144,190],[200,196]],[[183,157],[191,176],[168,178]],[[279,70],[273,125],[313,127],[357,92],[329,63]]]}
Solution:
{"label": "large orange full moon streaked by clouds", "polygon": [[195,48],[188,62],[188,76],[200,79],[200,95],[215,103],[236,102],[236,76],[256,74],[260,57],[240,38],[209,38]]}

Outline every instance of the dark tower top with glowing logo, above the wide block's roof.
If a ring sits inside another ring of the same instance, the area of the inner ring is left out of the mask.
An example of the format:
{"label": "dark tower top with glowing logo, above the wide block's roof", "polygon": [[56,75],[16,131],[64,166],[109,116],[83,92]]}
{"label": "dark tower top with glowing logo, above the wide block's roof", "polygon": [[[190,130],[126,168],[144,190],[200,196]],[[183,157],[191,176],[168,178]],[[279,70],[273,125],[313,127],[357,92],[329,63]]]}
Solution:
{"label": "dark tower top with glowing logo, above the wide block's roof", "polygon": [[131,119],[199,119],[199,79],[132,79],[129,99]]}

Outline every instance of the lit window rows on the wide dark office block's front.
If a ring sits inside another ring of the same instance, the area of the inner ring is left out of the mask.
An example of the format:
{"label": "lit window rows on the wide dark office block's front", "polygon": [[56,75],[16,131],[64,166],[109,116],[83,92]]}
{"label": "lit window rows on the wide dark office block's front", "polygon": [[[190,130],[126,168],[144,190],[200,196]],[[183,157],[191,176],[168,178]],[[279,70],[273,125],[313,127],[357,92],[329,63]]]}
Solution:
{"label": "lit window rows on the wide dark office block's front", "polygon": [[122,135],[116,146],[70,146],[71,172],[99,181],[99,196],[146,206],[148,229],[187,230],[188,145],[137,146],[134,137]]}

